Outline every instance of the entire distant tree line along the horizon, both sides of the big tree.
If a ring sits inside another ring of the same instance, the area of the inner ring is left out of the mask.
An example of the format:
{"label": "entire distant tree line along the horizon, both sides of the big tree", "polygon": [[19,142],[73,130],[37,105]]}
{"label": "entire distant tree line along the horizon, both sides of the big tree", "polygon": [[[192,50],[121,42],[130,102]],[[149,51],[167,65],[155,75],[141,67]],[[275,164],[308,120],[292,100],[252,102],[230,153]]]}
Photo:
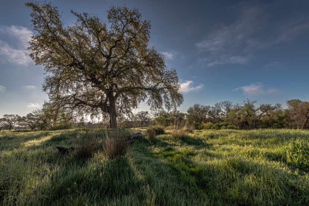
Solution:
{"label": "entire distant tree line along the horizon, both sides of the big tree", "polygon": [[[214,106],[194,104],[187,113],[180,111],[161,111],[151,115],[139,111],[124,116],[117,114],[117,124],[122,128],[141,128],[150,125],[171,126],[175,121],[187,121],[196,129],[258,129],[258,128],[309,128],[309,102],[299,99],[286,101],[287,108],[281,104],[257,104],[256,100],[246,99],[242,103],[222,101]],[[26,116],[6,114],[0,119],[3,129],[58,130],[69,128],[108,128],[109,118],[97,122],[87,121],[80,111],[73,112],[57,104],[44,102]]]}

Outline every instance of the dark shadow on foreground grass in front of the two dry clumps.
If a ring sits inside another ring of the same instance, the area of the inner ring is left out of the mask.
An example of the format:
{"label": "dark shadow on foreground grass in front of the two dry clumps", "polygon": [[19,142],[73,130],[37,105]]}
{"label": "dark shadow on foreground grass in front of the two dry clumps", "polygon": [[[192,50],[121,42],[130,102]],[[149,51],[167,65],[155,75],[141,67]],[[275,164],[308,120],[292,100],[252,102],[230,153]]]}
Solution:
{"label": "dark shadow on foreground grass in front of the two dry clumps", "polygon": [[[67,162],[52,175],[49,184],[54,192],[44,204],[144,205],[146,200],[142,182],[122,156],[105,161]],[[83,195],[87,198],[78,199]]]}

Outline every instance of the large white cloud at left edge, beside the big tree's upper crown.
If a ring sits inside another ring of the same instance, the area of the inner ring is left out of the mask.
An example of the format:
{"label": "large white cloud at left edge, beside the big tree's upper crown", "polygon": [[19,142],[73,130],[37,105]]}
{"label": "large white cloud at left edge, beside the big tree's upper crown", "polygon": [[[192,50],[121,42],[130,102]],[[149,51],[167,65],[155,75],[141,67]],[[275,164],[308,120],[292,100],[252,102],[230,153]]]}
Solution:
{"label": "large white cloud at left edge, beside the big tree's upper crown", "polygon": [[14,47],[7,42],[0,40],[0,60],[10,62],[17,65],[28,65],[32,62],[29,57],[28,41],[33,32],[26,27],[15,26],[0,26],[0,32],[6,36],[14,37],[18,46]]}

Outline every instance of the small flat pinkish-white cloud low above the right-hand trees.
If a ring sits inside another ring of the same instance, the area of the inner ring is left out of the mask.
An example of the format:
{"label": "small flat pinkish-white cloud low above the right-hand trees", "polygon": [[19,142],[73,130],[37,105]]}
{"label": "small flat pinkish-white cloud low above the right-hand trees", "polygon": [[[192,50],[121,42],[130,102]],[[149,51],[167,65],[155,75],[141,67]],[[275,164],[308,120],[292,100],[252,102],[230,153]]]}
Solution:
{"label": "small flat pinkish-white cloud low above the right-hand trees", "polygon": [[250,95],[250,96],[277,94],[279,92],[279,90],[271,87],[265,89],[265,86],[260,82],[256,82],[246,86],[240,86],[233,90],[234,91],[242,90],[244,95]]}

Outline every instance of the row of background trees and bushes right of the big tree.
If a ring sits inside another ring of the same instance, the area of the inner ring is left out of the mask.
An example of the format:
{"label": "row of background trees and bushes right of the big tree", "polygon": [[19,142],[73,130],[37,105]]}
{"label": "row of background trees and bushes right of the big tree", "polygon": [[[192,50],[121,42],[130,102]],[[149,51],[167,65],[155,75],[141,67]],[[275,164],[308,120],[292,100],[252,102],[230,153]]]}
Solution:
{"label": "row of background trees and bushes right of the big tree", "polygon": [[161,112],[156,124],[170,126],[178,120],[186,120],[196,129],[258,129],[258,128],[309,128],[309,102],[299,99],[281,104],[257,104],[256,100],[246,99],[242,103],[222,101],[214,106],[194,104],[187,113]]}

